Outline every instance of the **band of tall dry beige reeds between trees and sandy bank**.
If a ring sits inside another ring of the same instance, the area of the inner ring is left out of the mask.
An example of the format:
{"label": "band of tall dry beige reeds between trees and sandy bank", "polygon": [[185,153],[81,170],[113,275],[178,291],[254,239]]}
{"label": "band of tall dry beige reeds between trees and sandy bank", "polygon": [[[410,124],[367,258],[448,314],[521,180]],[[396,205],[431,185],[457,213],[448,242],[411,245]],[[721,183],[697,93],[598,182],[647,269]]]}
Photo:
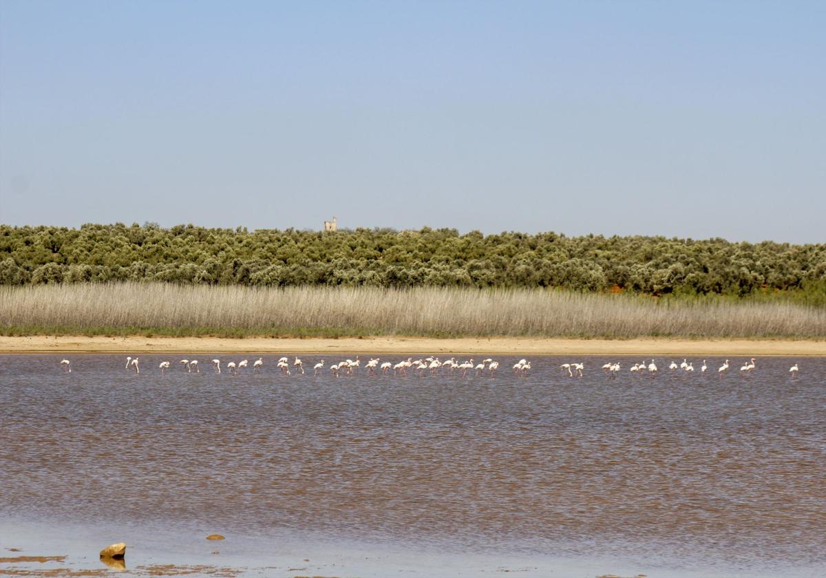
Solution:
{"label": "band of tall dry beige reeds between trees and sandy bank", "polygon": [[826,338],[826,308],[545,290],[0,287],[3,334]]}

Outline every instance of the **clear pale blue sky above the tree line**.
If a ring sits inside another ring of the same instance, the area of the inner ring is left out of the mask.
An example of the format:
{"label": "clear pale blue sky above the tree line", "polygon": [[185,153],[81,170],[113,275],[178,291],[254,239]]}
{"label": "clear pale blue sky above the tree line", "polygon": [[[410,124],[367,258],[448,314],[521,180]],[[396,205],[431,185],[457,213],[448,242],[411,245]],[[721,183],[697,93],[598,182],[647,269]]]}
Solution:
{"label": "clear pale blue sky above the tree line", "polygon": [[826,242],[826,2],[0,0],[0,223]]}

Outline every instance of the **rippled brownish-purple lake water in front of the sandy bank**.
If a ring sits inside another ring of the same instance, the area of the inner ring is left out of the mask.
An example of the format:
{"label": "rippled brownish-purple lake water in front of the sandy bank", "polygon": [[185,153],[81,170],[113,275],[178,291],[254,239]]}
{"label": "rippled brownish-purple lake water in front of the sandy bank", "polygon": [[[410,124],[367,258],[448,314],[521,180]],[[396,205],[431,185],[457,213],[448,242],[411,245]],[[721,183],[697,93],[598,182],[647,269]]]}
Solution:
{"label": "rippled brownish-purple lake water in front of the sandy bank", "polygon": [[610,379],[599,357],[580,379],[555,357],[526,377],[501,358],[495,377],[335,379],[282,376],[278,356],[219,376],[213,357],[189,374],[141,356],[135,375],[120,356],[74,356],[69,374],[0,356],[0,518],[714,576],[826,568],[826,359],[797,379],[784,358],[723,379],[717,358],[707,377],[659,358],[656,379],[615,358]]}

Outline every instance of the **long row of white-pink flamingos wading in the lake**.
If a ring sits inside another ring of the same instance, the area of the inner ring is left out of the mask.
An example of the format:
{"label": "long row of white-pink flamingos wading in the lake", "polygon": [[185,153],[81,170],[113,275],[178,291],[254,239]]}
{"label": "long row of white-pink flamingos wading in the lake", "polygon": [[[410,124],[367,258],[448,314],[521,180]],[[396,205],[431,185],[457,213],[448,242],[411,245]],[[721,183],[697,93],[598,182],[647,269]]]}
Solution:
{"label": "long row of white-pink flamingos wading in the lake", "polygon": [[[407,358],[406,360],[402,360],[400,362],[382,362],[379,363],[381,359],[379,358],[371,358],[364,364],[364,369],[367,370],[368,375],[374,375],[377,372],[381,372],[382,374],[389,374],[393,372],[393,375],[401,375],[406,376],[408,370],[411,372],[415,372],[417,375],[423,375],[425,373],[430,373],[435,375],[442,372],[460,372],[463,377],[468,375],[468,372],[475,372],[475,374],[482,375],[493,375],[499,369],[499,362],[494,361],[491,358],[482,359],[481,362],[474,363],[472,359],[468,361],[458,362],[456,358],[446,359],[444,361],[439,361],[439,358],[420,358],[420,359],[413,359]],[[188,373],[200,373],[201,369],[198,367],[198,360],[197,359],[181,359],[178,364],[183,367],[183,370]],[[67,373],[72,372],[71,362],[69,359],[64,359],[60,362],[61,367],[63,367],[63,371]],[[221,360],[220,359],[213,359],[212,366],[216,373],[221,373]],[[161,375],[164,375],[166,371],[172,367],[172,362],[164,361],[160,362],[158,368],[160,369]],[[249,367],[249,359],[242,359],[240,362],[228,362],[225,365],[226,371],[229,372],[231,375],[239,375],[244,373],[245,370]],[[289,358],[280,358],[278,359],[278,363],[276,363],[276,367],[278,370],[282,372],[284,375],[292,375],[293,372],[297,374],[304,373],[304,364],[301,362],[300,358],[294,358],[292,361],[292,371],[291,371],[291,363],[289,362]],[[353,375],[354,372],[358,371],[359,367],[361,367],[361,360],[358,358],[358,355],[355,359],[344,359],[343,361],[333,363],[329,367],[330,374],[334,377],[339,377],[339,375]],[[747,377],[751,375],[754,371],[755,365],[755,358],[751,358],[749,361],[744,362],[743,366],[740,367],[740,375]],[[263,368],[263,358],[258,358],[256,361],[253,362],[252,365],[252,372],[253,373],[260,373]],[[582,377],[583,371],[585,369],[585,363],[580,362],[573,362],[573,363],[563,363],[559,366],[562,370],[563,374],[567,372],[568,377]],[[708,370],[708,365],[705,363],[705,359],[703,360],[703,364],[700,366],[700,375],[705,375],[705,372]],[[316,363],[313,366],[313,375],[318,375],[320,372],[324,371],[325,369],[325,361],[322,359],[320,362]],[[601,367],[602,371],[605,372],[605,375],[611,378],[615,378],[619,371],[622,369],[619,362],[608,362],[605,363]],[[671,372],[674,371],[681,371],[692,373],[694,372],[694,362],[689,362],[687,359],[683,359],[682,362],[677,365],[676,362],[672,361],[668,365],[668,369]],[[126,358],[126,370],[134,371],[135,373],[140,373],[140,363],[138,358],[127,357]],[[526,359],[520,359],[516,362],[513,366],[513,372],[517,376],[525,376],[528,371],[530,370],[530,362]],[[657,363],[654,359],[651,360],[650,363],[641,362],[641,363],[634,363],[633,366],[629,369],[630,372],[636,375],[642,375],[645,372],[648,372],[648,375],[651,377],[656,377],[657,372],[659,371],[657,367]],[[729,360],[726,359],[723,365],[718,367],[717,375],[722,377],[724,373],[729,371]],[[791,377],[795,377],[797,373],[800,371],[800,367],[798,364],[791,366],[789,368],[789,373]]]}

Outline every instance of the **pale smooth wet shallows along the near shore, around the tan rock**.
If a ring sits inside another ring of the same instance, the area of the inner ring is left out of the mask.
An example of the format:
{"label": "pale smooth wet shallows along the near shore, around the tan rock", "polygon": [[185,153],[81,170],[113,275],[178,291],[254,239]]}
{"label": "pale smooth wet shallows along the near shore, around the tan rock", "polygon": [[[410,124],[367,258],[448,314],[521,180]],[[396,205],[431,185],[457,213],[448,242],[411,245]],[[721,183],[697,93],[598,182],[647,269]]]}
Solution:
{"label": "pale smooth wet shallows along the near shore, around the tan rock", "polygon": [[[0,519],[0,555],[15,544],[26,552],[60,552],[42,560],[0,561],[0,576],[273,576],[275,578],[384,578],[385,576],[501,576],[523,578],[591,576],[596,578],[696,578],[696,570],[661,566],[649,574],[646,564],[595,554],[589,560],[547,554],[477,553],[417,548],[395,542],[330,542],[314,534],[273,540],[229,533],[220,549],[203,532],[187,526],[158,528],[124,524],[61,524],[56,520],[21,522]],[[97,557],[114,539],[127,542],[117,565]],[[15,548],[18,549],[18,548]],[[796,568],[795,576],[814,578],[816,568]],[[717,569],[718,578],[770,578],[774,571]]]}

